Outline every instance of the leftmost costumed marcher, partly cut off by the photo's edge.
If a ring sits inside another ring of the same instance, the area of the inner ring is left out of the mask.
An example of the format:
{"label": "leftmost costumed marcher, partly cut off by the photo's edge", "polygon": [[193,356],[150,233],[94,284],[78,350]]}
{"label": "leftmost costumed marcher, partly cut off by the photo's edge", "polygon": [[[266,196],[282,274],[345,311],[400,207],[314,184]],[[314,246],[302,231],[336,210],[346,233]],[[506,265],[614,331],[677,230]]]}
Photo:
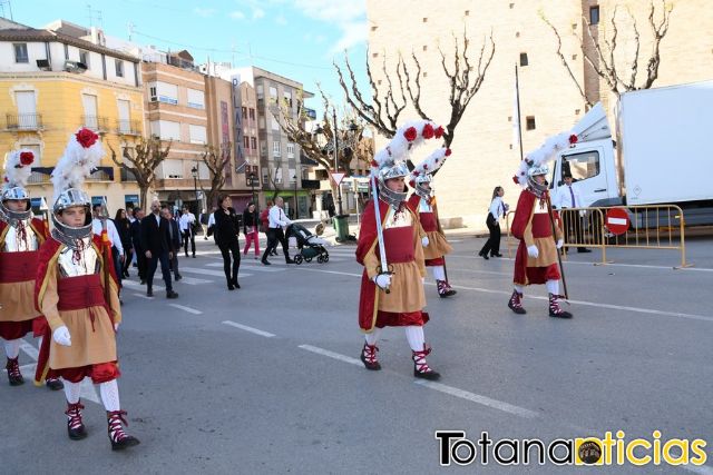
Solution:
{"label": "leftmost costumed marcher, partly cut off by the photo's edge", "polygon": [[[45,317],[35,308],[35,276],[40,246],[48,237],[47,226],[32,215],[26,190],[32,172],[31,150],[14,150],[6,155],[4,182],[0,204],[0,337],[6,340],[6,368],[11,386],[25,383],[18,357],[22,337],[32,331],[42,334]],[[22,201],[25,209],[13,211],[8,200]],[[50,389],[61,389],[57,378],[48,378]]]}

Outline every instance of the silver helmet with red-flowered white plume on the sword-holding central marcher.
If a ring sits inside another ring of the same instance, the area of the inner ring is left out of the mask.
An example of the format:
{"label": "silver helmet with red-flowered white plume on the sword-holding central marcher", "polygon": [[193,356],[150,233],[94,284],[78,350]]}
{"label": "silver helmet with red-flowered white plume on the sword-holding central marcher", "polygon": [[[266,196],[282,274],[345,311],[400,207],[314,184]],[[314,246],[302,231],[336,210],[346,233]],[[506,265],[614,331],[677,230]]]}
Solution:
{"label": "silver helmet with red-flowered white plume on the sword-holding central marcher", "polygon": [[406,160],[414,147],[424,140],[441,138],[443,128],[429,120],[410,121],[399,127],[389,145],[374,155],[371,174],[378,179],[379,196],[392,207],[397,208],[406,200],[407,192],[391,191],[387,180],[409,175]]}

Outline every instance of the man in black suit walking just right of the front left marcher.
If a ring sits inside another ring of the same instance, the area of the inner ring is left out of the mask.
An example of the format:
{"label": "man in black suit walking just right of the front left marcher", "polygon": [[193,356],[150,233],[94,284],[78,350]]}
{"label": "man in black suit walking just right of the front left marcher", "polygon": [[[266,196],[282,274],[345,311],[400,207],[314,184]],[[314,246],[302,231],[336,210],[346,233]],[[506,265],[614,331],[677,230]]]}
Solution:
{"label": "man in black suit walking just right of the front left marcher", "polygon": [[166,284],[166,298],[177,298],[170,281],[169,258],[173,257],[168,241],[168,220],[160,216],[160,202],[155,199],[152,202],[152,214],[141,219],[141,250],[147,259],[146,295],[154,296],[154,274],[160,261],[160,273]]}

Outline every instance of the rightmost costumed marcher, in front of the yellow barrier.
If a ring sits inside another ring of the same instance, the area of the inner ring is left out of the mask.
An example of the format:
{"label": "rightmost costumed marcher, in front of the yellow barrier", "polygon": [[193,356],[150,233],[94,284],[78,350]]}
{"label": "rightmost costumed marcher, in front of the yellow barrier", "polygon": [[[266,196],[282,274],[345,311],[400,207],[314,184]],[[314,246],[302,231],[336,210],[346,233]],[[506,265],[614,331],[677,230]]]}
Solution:
{"label": "rightmost costumed marcher, in front of the yellow barrier", "polygon": [[[560,271],[558,249],[561,248],[563,231],[559,218],[551,210],[548,185],[538,182],[537,177],[548,174],[547,161],[558,150],[576,142],[577,136],[560,133],[548,139],[544,146],[529,154],[520,164],[520,169],[512,177],[516,184],[525,189],[515,210],[511,232],[520,244],[515,256],[515,289],[508,300],[508,307],[516,314],[525,314],[522,307],[522,289],[530,284],[544,284],[549,294],[549,316],[572,318],[569,311],[559,306]],[[553,235],[554,232],[554,235]]]}

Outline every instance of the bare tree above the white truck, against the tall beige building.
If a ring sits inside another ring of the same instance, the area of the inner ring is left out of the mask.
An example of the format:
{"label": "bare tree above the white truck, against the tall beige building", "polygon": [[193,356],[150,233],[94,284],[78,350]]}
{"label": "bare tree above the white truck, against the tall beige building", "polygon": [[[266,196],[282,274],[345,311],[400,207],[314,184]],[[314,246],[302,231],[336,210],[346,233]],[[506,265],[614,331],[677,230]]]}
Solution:
{"label": "bare tree above the white truck, against the tall beige building", "polygon": [[[654,0],[651,0],[651,8],[648,9],[647,22],[652,33],[652,50],[647,59],[642,58],[638,26],[636,22],[636,18],[628,8],[626,8],[626,12],[628,14],[628,19],[632,21],[632,34],[634,40],[634,55],[628,60],[617,58],[617,40],[621,27],[619,23],[622,21],[617,20],[618,6],[614,7],[614,11],[612,12],[612,17],[609,18],[612,32],[607,38],[606,31],[603,31],[602,40],[598,39],[598,36],[595,37],[595,34],[593,34],[593,26],[592,23],[589,23],[588,19],[584,16],[582,17],[584,30],[586,31],[586,39],[592,42],[592,48],[587,48],[587,46],[585,44],[584,34],[582,37],[577,37],[583,57],[587,65],[599,78],[604,80],[604,82],[606,82],[609,90],[614,92],[617,98],[622,95],[622,92],[638,89],[649,89],[653,86],[654,81],[656,81],[656,79],[658,78],[658,67],[661,66],[661,41],[668,32],[671,13],[673,11],[673,6],[666,4],[665,0],[662,0],[661,3],[662,6],[660,20],[655,18],[656,7],[654,4]],[[544,14],[540,13],[540,17],[551,28],[551,30],[555,32],[555,36],[557,37],[557,55],[569,72],[569,77],[576,83],[579,93],[583,96],[585,101],[588,105],[592,105],[590,100],[584,93],[582,86],[579,85],[579,82],[577,82],[575,76],[573,75],[572,68],[567,63],[567,60],[561,53],[561,37],[557,31],[557,28],[555,28],[555,26],[549,22]],[[642,61],[642,59],[644,59],[645,61]],[[637,85],[636,79],[639,73],[639,62],[646,63],[646,77],[642,82]]]}

